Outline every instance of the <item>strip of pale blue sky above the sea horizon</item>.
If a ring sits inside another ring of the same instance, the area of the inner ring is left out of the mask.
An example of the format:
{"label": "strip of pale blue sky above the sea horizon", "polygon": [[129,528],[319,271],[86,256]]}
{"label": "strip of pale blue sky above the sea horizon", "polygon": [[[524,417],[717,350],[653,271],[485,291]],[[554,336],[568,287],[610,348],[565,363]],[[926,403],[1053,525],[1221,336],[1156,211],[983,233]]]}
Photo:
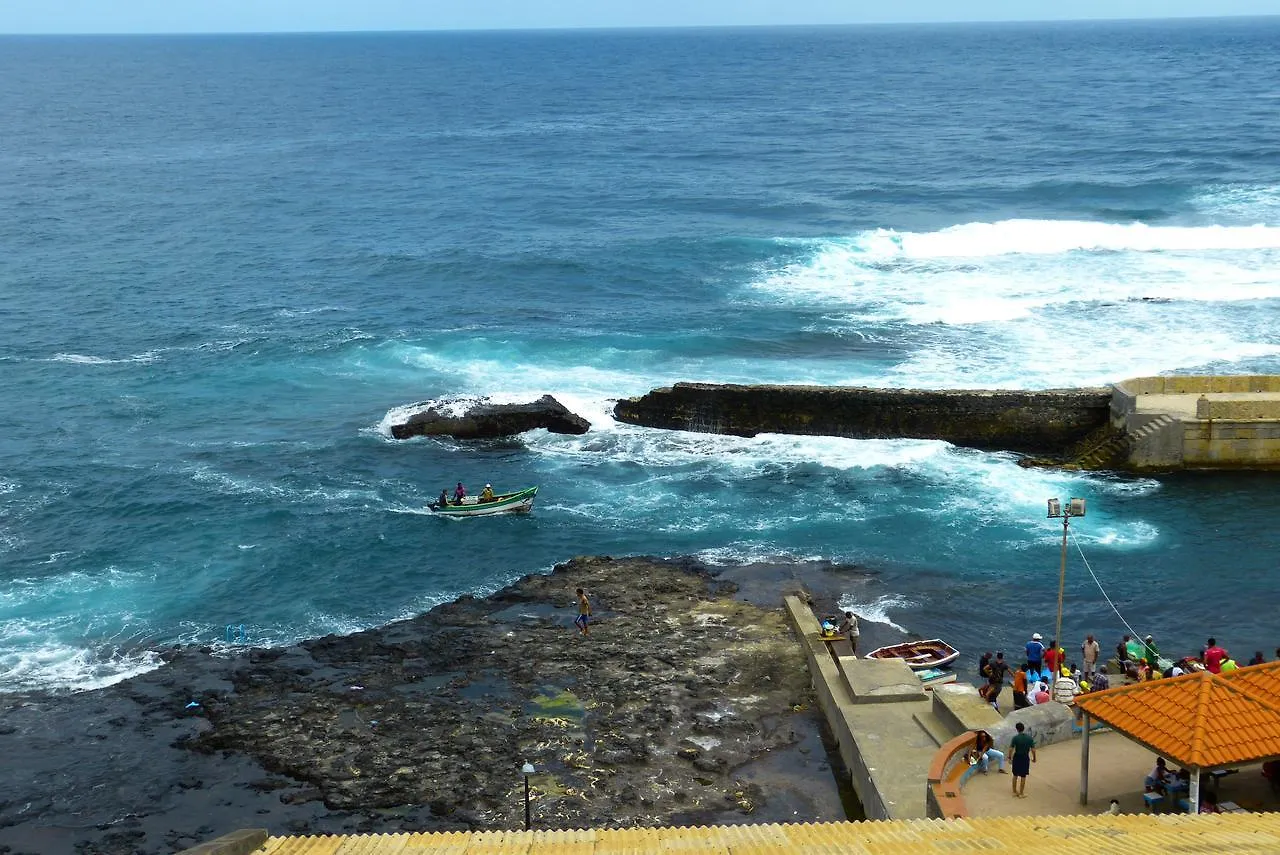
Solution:
{"label": "strip of pale blue sky above the sea horizon", "polygon": [[1277,12],[1280,0],[0,0],[0,33],[858,24]]}

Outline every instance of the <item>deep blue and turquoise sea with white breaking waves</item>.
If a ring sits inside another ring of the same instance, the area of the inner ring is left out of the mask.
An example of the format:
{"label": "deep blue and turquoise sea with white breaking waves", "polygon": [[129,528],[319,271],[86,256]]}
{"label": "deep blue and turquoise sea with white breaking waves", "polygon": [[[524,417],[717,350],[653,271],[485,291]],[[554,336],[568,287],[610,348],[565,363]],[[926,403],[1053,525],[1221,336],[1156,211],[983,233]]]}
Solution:
{"label": "deep blue and turquoise sea with white breaking waves", "polygon": [[[1277,45],[1280,19],[0,38],[0,689],[594,553],[856,563],[846,605],[1015,648],[1052,631],[1069,495],[1130,623],[1270,651],[1274,476],[609,413],[677,380],[1280,372]],[[388,435],[412,402],[543,393],[593,430]],[[538,507],[433,518],[460,479]],[[1075,547],[1065,623],[1123,631]]]}

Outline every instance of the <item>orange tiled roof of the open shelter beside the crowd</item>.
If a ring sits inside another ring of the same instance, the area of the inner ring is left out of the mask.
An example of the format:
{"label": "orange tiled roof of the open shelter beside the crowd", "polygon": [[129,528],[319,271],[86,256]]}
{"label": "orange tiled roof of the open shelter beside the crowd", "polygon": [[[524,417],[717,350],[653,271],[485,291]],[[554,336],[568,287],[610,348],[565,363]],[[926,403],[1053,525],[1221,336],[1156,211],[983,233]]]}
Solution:
{"label": "orange tiled roof of the open shelter beside the crowd", "polygon": [[1210,769],[1280,756],[1280,663],[1139,682],[1075,703],[1180,765]]}

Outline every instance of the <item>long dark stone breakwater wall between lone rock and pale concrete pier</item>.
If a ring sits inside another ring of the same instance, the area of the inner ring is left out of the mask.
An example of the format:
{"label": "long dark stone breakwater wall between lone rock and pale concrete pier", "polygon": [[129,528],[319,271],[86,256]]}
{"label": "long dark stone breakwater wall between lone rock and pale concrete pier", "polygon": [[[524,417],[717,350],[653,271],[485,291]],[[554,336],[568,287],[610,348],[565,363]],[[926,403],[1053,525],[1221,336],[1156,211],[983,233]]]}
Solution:
{"label": "long dark stone breakwater wall between lone rock and pale concrete pier", "polygon": [[924,390],[677,383],[620,401],[632,425],[754,436],[943,439],[970,448],[1061,454],[1110,419],[1111,390]]}

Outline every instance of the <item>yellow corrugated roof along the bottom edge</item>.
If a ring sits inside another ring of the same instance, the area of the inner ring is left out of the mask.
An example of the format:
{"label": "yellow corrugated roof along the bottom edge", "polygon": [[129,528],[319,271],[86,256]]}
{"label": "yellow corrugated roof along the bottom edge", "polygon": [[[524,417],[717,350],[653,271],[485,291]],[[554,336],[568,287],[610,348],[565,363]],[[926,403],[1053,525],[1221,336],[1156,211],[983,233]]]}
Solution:
{"label": "yellow corrugated roof along the bottom edge", "polygon": [[266,855],[1275,855],[1280,814],[896,819],[794,826],[271,837]]}

